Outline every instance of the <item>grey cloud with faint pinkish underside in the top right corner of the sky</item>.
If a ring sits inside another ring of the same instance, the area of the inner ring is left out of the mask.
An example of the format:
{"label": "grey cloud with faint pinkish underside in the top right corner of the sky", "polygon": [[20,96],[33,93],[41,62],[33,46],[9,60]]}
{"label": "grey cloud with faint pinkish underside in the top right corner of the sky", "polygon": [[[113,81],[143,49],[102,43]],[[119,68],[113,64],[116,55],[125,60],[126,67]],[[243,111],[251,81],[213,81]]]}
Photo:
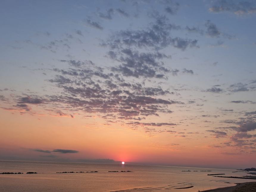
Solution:
{"label": "grey cloud with faint pinkish underside in the top right corner of the sky", "polygon": [[229,0],[218,0],[213,1],[212,7],[209,8],[210,12],[232,12],[236,15],[252,14],[256,13],[255,1],[229,1]]}

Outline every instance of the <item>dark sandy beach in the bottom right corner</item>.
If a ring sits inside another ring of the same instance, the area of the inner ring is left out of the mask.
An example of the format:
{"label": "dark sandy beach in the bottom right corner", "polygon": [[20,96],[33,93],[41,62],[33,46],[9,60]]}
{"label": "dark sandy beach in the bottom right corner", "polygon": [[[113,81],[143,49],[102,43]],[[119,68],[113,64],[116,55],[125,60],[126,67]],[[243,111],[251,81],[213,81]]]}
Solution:
{"label": "dark sandy beach in the bottom right corner", "polygon": [[222,188],[216,188],[216,189],[209,189],[201,192],[232,192],[234,190],[247,190],[251,191],[251,188],[255,189],[256,182],[244,182],[244,183],[234,183],[235,186],[230,187],[222,187]]}

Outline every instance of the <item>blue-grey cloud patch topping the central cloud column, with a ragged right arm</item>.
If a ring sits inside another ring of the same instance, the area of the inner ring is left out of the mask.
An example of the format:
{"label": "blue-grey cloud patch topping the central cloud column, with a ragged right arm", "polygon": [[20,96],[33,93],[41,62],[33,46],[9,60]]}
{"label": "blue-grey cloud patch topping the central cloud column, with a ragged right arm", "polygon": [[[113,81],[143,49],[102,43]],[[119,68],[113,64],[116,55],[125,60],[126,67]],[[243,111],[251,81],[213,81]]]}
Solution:
{"label": "blue-grey cloud patch topping the central cloud column, with a ragged right arm", "polygon": [[120,49],[123,46],[134,46],[138,48],[163,49],[169,45],[185,50],[188,47],[198,47],[197,40],[171,37],[171,30],[180,29],[180,26],[169,24],[165,16],[153,15],[155,22],[146,29],[121,30],[114,33],[106,43],[111,49]]}

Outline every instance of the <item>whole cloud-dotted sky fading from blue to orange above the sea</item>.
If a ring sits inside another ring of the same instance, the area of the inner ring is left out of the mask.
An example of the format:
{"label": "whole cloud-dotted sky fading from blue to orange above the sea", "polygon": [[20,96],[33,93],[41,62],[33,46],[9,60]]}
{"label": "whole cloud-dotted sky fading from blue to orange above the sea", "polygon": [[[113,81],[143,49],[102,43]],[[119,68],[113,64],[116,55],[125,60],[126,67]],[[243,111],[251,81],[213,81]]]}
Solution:
{"label": "whole cloud-dotted sky fading from blue to orange above the sea", "polygon": [[255,166],[255,1],[3,0],[0,14],[0,159]]}

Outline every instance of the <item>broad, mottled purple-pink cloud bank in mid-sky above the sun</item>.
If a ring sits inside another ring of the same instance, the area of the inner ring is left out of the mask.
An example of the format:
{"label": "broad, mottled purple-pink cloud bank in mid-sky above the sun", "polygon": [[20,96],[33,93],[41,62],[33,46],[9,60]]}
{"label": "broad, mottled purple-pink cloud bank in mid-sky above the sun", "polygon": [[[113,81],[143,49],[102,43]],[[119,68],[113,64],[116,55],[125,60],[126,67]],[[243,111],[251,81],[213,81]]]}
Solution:
{"label": "broad, mottled purple-pink cloud bank in mid-sky above the sun", "polygon": [[[62,88],[65,96],[47,96],[48,101],[65,104],[68,108],[72,106],[74,110],[78,108],[87,113],[114,113],[117,115],[116,118],[121,119],[172,113],[168,105],[182,104],[169,99],[154,98],[174,94],[160,86],[146,87],[143,83],[124,82],[116,74],[105,74],[104,71],[95,70],[98,69],[88,69],[85,66],[73,69],[72,73],[55,70],[63,76],[56,75],[50,82]],[[110,80],[101,81],[99,78]]]}

